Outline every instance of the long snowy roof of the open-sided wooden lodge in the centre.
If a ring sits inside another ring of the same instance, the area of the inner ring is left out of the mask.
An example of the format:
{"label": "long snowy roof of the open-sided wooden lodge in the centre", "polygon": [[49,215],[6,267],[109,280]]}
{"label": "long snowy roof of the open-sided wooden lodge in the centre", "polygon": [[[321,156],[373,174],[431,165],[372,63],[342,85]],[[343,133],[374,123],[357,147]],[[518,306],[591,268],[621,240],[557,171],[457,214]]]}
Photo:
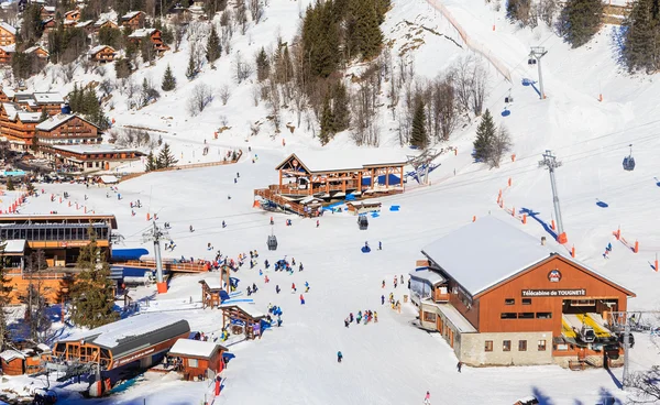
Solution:
{"label": "long snowy roof of the open-sided wooden lodge in the centre", "polygon": [[289,158],[311,173],[360,169],[370,166],[405,165],[408,162],[402,150],[353,149],[342,151],[298,151],[277,165],[279,169]]}

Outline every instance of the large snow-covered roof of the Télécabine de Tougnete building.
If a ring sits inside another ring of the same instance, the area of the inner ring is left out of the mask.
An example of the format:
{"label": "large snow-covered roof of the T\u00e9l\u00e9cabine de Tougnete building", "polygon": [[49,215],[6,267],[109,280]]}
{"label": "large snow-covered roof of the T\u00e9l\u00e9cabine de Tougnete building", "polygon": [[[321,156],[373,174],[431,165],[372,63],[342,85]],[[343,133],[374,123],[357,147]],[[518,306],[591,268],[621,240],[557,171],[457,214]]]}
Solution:
{"label": "large snow-covered roof of the T\u00e9l\u00e9cabine de Tougnete building", "polygon": [[552,251],[530,234],[484,217],[431,242],[422,253],[475,296],[548,259]]}

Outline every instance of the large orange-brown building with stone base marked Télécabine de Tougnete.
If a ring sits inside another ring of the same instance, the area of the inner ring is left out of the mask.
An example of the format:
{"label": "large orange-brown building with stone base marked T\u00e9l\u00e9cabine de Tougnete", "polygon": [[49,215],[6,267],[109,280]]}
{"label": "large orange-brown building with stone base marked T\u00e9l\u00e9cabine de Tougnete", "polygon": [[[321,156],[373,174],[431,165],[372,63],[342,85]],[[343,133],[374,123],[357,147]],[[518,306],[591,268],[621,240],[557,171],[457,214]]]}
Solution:
{"label": "large orange-brown building with stone base marked T\u00e9l\u00e9cabine de Tougnete", "polygon": [[410,273],[424,329],[470,365],[623,363],[613,311],[635,294],[493,217],[425,247]]}

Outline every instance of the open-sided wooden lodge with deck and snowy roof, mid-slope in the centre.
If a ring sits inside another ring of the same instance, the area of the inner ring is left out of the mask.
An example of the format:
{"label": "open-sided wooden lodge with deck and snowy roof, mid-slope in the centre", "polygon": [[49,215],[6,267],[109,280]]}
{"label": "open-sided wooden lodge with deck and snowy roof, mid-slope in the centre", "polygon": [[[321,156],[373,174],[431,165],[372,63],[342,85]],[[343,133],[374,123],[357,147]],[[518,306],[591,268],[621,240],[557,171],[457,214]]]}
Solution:
{"label": "open-sided wooden lodge with deck and snowy roof, mid-slope in the centre", "polygon": [[275,167],[278,184],[254,195],[265,208],[315,215],[319,200],[403,193],[407,162],[403,153],[386,150],[293,153]]}

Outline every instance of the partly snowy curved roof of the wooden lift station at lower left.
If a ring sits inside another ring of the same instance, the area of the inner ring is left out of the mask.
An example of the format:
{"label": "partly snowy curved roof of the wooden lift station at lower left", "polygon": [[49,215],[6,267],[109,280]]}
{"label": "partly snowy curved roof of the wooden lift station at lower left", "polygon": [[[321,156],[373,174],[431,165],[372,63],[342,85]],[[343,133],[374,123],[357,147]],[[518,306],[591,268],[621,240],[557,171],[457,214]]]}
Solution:
{"label": "partly snowy curved roof of the wooden lift station at lower left", "polygon": [[[79,331],[59,341],[67,342],[84,340],[107,349],[112,349],[124,342],[135,341],[138,340],[136,338],[141,336],[155,332],[160,329],[170,327],[182,321],[186,322],[187,325],[187,321],[167,314],[147,313],[121,319],[95,329]],[[188,327],[188,330],[190,328]]]}

